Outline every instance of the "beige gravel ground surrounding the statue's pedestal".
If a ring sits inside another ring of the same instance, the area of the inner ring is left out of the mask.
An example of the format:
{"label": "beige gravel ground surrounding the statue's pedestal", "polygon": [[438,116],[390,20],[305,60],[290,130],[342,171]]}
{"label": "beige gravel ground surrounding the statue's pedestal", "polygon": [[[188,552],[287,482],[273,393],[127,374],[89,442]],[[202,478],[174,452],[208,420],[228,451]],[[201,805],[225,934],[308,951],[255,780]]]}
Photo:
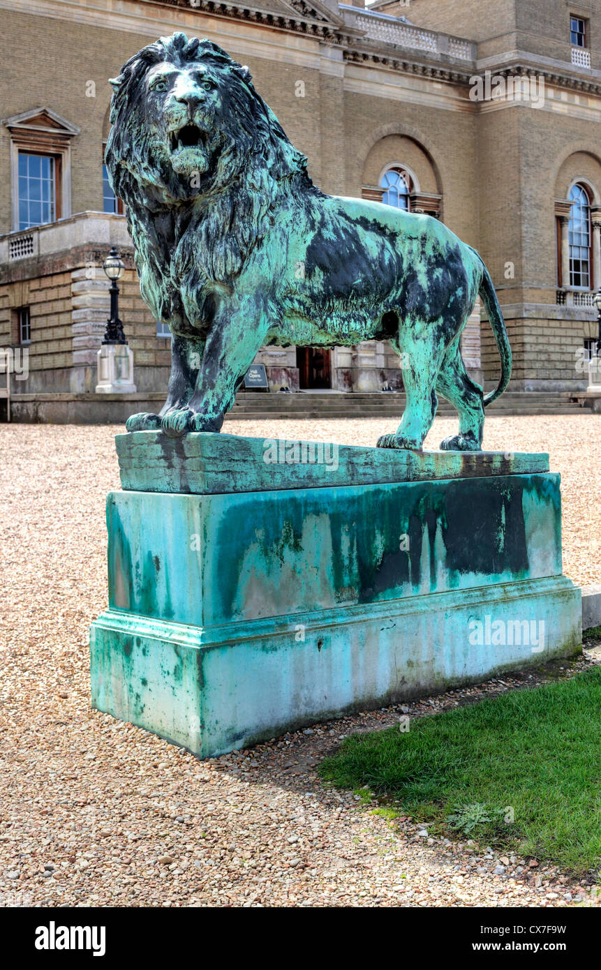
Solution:
{"label": "beige gravel ground surrounding the statue's pedestal", "polygon": [[[437,419],[429,445],[452,424]],[[373,444],[389,429],[336,420],[232,421],[225,430]],[[588,901],[590,880],[431,839],[411,820],[390,824],[320,785],[315,764],[341,736],[394,724],[399,708],[208,762],[90,709],[87,627],[106,605],[104,502],[119,487],[119,430],[0,426],[0,905]],[[486,424],[487,447],[551,451],[563,476],[566,571],[583,583],[601,581],[600,432],[592,415]],[[593,651],[573,669],[595,662]],[[505,677],[424,698],[409,713],[531,683]]]}

